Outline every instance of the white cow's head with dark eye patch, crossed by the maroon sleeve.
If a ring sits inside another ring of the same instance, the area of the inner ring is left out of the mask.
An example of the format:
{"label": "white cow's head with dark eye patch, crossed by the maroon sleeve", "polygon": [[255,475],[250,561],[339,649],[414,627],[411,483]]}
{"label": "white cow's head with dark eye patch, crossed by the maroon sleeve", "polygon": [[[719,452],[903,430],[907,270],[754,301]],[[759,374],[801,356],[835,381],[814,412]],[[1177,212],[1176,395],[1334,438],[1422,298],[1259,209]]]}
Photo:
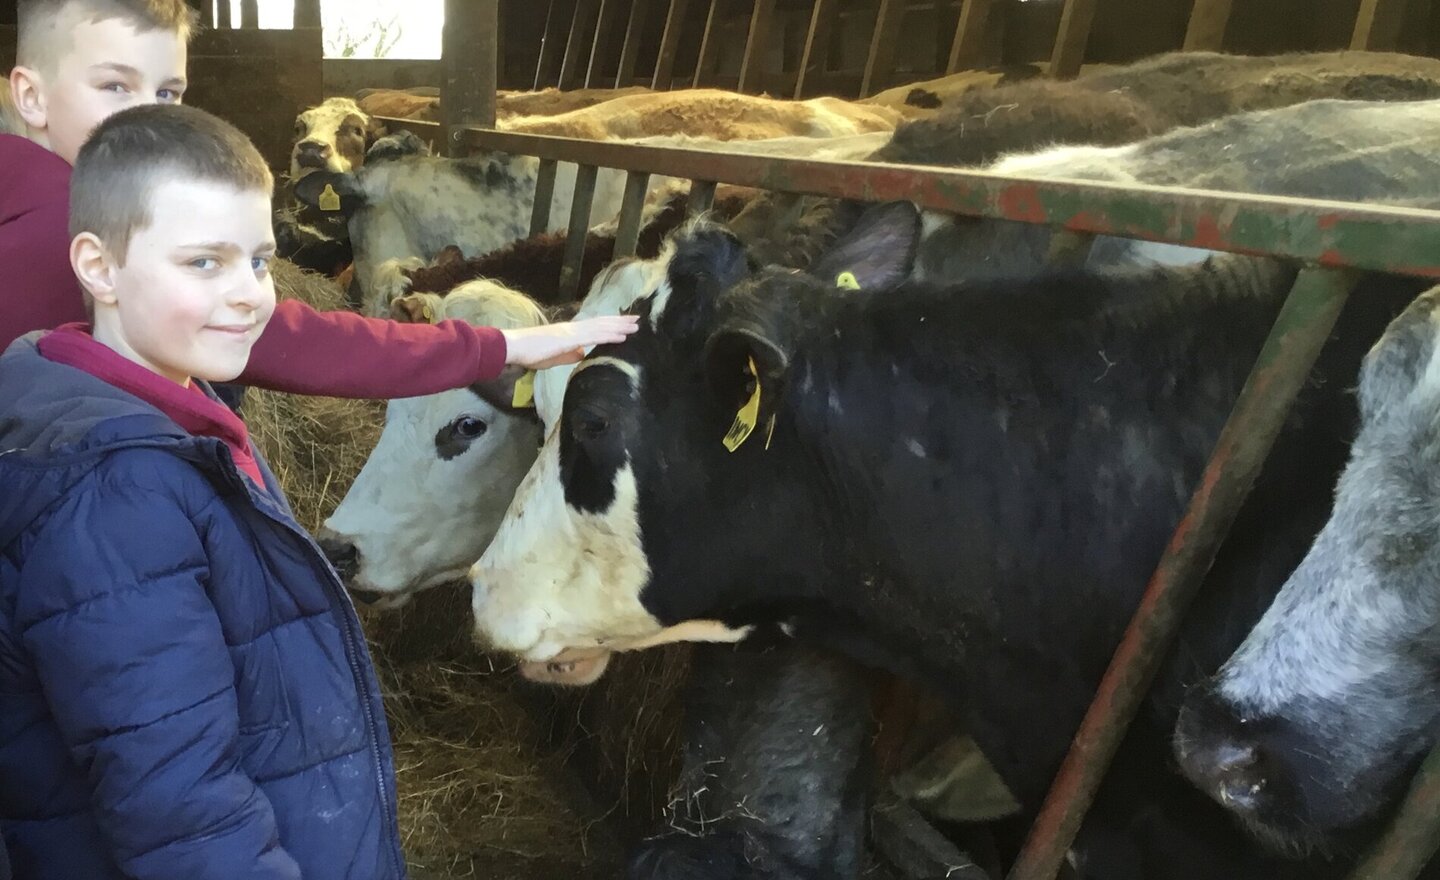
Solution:
{"label": "white cow's head with dark eye patch, crossed by the maroon sleeve", "polygon": [[[402,297],[393,315],[501,328],[544,323],[534,301],[492,281],[444,298]],[[490,544],[540,444],[534,412],[508,405],[513,387],[510,373],[390,402],[380,442],[320,536],[357,598],[397,608],[416,591],[461,580]]]}

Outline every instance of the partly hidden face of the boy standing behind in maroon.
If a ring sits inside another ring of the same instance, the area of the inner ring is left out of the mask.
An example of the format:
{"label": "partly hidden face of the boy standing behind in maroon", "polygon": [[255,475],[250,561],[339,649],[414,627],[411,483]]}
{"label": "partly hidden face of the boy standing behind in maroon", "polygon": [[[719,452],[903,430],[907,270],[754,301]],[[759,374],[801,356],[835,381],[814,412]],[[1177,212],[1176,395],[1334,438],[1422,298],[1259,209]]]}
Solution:
{"label": "partly hidden face of the boy standing behind in maroon", "polygon": [[59,58],[43,71],[16,68],[12,89],[35,138],[65,161],[75,164],[81,144],[111,114],[177,104],[184,94],[186,45],[177,33],[137,32],[121,19],[59,24],[72,27],[56,39]]}

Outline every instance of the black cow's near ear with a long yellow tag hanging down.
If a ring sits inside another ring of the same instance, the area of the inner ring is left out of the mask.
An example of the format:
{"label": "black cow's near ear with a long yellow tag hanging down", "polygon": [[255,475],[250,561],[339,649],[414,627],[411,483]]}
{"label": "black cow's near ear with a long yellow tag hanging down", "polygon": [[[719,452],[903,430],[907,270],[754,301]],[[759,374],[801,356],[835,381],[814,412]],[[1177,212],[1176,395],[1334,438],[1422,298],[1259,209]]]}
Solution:
{"label": "black cow's near ear with a long yellow tag hanging down", "polygon": [[769,448],[791,369],[786,310],[762,307],[727,318],[706,343],[706,376],[720,405],[734,412],[721,438],[734,452],[744,442]]}

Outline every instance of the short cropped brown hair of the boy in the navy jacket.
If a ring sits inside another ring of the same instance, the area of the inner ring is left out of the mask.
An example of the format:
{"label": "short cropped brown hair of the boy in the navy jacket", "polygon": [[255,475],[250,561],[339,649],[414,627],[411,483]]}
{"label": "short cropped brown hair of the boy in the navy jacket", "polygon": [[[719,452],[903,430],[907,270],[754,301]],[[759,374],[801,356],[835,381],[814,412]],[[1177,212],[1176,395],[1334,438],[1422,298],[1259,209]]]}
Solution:
{"label": "short cropped brown hair of the boy in the navy jacket", "polygon": [[95,128],[71,176],[71,238],[94,233],[124,265],[130,239],[151,220],[161,183],[204,181],[259,190],[274,177],[239,128],[203,109],[143,104]]}

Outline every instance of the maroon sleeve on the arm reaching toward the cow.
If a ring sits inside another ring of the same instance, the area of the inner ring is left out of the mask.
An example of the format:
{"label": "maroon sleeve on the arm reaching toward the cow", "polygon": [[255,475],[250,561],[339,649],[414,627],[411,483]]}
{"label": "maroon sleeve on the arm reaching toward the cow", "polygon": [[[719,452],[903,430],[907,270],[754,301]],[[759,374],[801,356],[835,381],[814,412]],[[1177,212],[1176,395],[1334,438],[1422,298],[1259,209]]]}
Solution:
{"label": "maroon sleeve on the arm reaching toward the cow", "polygon": [[295,395],[418,398],[495,379],[505,337],[465,321],[402,324],[285,300],[238,382]]}

